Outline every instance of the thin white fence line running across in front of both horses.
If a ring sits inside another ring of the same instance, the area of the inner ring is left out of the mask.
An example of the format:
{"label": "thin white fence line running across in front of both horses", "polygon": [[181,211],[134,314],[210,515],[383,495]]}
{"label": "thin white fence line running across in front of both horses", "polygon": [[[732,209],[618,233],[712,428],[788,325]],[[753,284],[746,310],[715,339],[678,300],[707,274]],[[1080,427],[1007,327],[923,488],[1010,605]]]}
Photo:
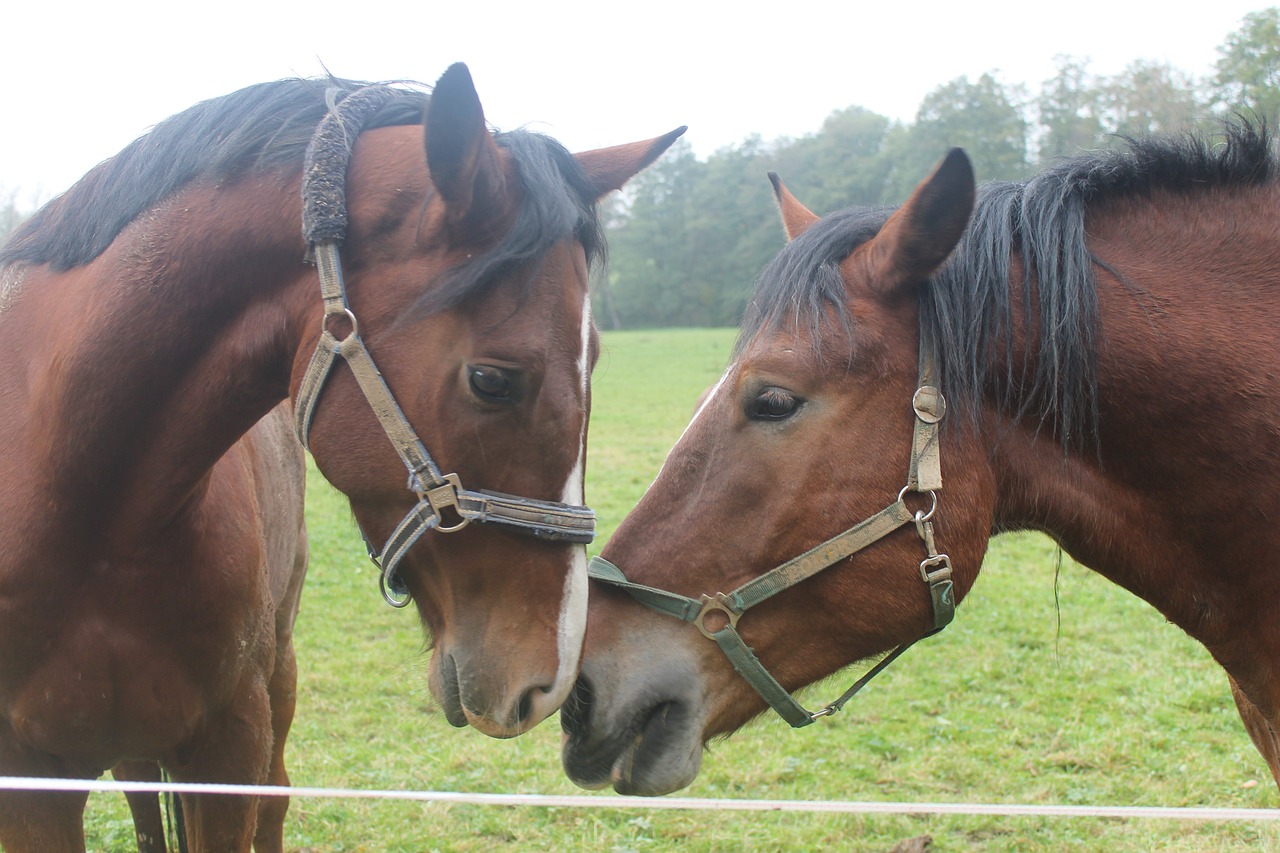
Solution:
{"label": "thin white fence line running across in front of both horses", "polygon": [[556,794],[472,794],[440,790],[372,790],[355,788],[280,788],[275,785],[211,785],[131,783],[83,779],[0,776],[0,790],[115,792],[174,794],[241,794],[321,799],[397,799],[463,806],[540,808],[703,809],[732,812],[814,812],[840,815],[992,815],[1001,817],[1119,817],[1176,821],[1280,821],[1280,808],[1201,808],[1161,806],[1023,806],[1002,803],[876,803],[813,799],[709,799],[698,797],[612,797]]}

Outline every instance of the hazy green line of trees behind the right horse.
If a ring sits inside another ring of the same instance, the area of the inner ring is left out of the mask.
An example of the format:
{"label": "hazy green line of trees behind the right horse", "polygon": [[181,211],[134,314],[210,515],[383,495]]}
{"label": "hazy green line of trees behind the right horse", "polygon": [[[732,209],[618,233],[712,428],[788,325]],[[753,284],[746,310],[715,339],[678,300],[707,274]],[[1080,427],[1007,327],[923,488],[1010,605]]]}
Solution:
{"label": "hazy green line of trees behind the right horse", "polygon": [[755,136],[707,159],[677,142],[605,210],[609,269],[595,282],[595,316],[604,328],[736,325],[783,241],[769,170],[818,213],[899,205],[951,146],[979,181],[1019,181],[1124,136],[1213,132],[1233,113],[1280,118],[1280,9],[1245,15],[1202,79],[1149,60],[1094,74],[1059,56],[1036,92],[989,73],[960,77],[929,92],[913,122],[849,106],[815,133]]}

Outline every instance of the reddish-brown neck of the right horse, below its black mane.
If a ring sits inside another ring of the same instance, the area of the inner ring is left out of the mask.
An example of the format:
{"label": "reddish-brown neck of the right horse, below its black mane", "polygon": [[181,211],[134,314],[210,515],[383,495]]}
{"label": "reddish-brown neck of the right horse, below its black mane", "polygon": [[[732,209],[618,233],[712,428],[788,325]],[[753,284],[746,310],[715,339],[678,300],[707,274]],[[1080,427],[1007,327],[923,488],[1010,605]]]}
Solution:
{"label": "reddish-brown neck of the right horse, below its black mane", "polygon": [[[1258,520],[1280,510],[1251,492],[1253,511],[1235,511],[1242,484],[1280,476],[1271,407],[1248,405],[1276,398],[1280,370],[1267,336],[1245,328],[1280,321],[1268,269],[1276,228],[1256,213],[1274,209],[1276,195],[1167,193],[1092,216],[1091,247],[1106,263],[1094,268],[1096,441],[1064,447],[1009,406],[988,430],[996,529],[1048,532],[1211,649],[1206,602],[1258,592],[1245,576],[1266,551]],[[1213,222],[1228,223],[1220,243]],[[1027,357],[1028,337],[1015,334],[1012,364]],[[1001,411],[995,396],[988,411]]]}

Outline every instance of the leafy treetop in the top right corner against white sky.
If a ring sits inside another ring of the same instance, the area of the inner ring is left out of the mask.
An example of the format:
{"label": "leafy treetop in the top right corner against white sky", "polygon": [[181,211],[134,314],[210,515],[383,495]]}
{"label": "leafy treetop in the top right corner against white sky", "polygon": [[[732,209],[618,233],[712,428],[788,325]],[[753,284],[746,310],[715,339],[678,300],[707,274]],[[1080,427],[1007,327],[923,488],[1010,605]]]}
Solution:
{"label": "leafy treetop in the top right corner against white sky", "polygon": [[1222,108],[1280,118],[1280,9],[1244,15],[1217,49],[1215,90]]}

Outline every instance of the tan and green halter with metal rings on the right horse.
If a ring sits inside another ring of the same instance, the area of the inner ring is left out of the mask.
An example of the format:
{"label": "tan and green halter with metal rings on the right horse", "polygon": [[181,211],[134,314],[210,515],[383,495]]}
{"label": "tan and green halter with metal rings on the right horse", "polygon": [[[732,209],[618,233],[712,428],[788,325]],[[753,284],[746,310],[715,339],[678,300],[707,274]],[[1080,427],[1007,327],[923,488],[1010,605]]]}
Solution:
{"label": "tan and green halter with metal rings on the right horse", "polygon": [[[733,669],[755,688],[756,693],[769,703],[769,707],[794,727],[806,726],[819,717],[831,716],[840,711],[868,681],[879,675],[895,658],[919,640],[904,643],[891,651],[831,704],[818,711],[806,711],[755,657],[755,652],[737,633],[737,621],[749,608],[772,598],[783,589],[795,587],[801,580],[814,576],[914,521],[915,532],[920,537],[927,555],[920,561],[920,580],[928,585],[929,599],[933,605],[933,629],[924,637],[937,634],[951,622],[955,616],[951,558],[945,553],[938,553],[933,542],[932,521],[933,514],[938,508],[937,493],[942,489],[938,424],[946,414],[946,401],[938,391],[937,366],[932,347],[925,341],[922,329],[919,383],[911,397],[911,409],[915,411],[911,461],[906,485],[899,492],[893,503],[730,593],[718,592],[714,596],[704,594],[700,598],[686,598],[666,589],[631,583],[621,569],[602,557],[591,560],[588,566],[589,576],[626,590],[641,605],[659,613],[692,622],[703,637],[714,640],[721,647]],[[928,494],[929,510],[913,512],[904,501],[908,492]],[[707,617],[710,613],[721,613],[721,619],[726,621],[723,628],[716,630],[708,628]]]}

